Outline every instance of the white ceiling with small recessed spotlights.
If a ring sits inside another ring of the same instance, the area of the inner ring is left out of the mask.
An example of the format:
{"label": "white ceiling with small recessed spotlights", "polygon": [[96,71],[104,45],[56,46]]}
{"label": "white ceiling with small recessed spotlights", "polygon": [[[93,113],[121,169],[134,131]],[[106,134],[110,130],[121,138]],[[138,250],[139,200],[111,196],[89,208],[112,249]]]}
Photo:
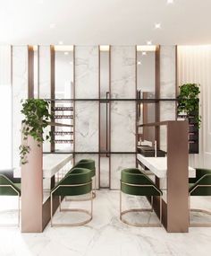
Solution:
{"label": "white ceiling with small recessed spotlights", "polygon": [[0,0],[0,43],[211,44],[211,0],[166,2]]}

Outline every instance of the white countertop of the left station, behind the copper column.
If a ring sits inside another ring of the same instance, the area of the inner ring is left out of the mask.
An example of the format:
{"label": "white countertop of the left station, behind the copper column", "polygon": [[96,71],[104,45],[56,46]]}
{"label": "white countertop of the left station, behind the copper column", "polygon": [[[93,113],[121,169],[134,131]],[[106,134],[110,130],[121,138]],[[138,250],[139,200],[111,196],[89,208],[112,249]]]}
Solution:
{"label": "white countertop of the left station, behind the copper column", "polygon": [[[43,177],[51,178],[72,160],[72,154],[43,154]],[[21,169],[14,170],[14,177],[21,177]]]}

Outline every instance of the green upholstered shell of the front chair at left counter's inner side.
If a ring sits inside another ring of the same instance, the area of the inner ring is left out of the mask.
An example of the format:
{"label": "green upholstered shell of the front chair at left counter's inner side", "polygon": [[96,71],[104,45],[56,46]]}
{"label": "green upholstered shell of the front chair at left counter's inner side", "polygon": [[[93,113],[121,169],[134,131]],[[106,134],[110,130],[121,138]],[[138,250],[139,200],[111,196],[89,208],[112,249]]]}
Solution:
{"label": "green upholstered shell of the front chair at left counter's inner side", "polygon": [[[76,186],[65,187],[65,185]],[[79,196],[87,194],[92,190],[91,171],[85,168],[74,168],[63,180],[59,181],[53,190],[55,190],[54,195],[57,196]]]}

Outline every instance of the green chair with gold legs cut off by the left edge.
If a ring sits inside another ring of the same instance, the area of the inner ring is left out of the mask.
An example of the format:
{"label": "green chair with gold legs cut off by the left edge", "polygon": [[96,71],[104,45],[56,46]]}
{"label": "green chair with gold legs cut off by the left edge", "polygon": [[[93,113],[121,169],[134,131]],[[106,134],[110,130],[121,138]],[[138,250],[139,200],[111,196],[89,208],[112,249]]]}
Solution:
{"label": "green chair with gold legs cut off by the left edge", "polygon": [[17,225],[20,226],[21,179],[13,178],[13,170],[0,171],[0,196],[18,196]]}

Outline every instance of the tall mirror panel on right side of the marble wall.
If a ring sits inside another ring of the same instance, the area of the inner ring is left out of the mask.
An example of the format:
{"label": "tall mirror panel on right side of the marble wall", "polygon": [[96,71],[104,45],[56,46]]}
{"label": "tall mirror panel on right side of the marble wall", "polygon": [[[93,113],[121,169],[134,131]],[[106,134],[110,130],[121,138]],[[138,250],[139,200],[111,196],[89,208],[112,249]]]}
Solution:
{"label": "tall mirror panel on right side of the marble wall", "polygon": [[[156,98],[156,47],[137,46],[137,97],[138,99]],[[138,104],[138,124],[156,121],[156,104],[140,102]],[[140,140],[155,141],[155,128],[139,128]]]}

